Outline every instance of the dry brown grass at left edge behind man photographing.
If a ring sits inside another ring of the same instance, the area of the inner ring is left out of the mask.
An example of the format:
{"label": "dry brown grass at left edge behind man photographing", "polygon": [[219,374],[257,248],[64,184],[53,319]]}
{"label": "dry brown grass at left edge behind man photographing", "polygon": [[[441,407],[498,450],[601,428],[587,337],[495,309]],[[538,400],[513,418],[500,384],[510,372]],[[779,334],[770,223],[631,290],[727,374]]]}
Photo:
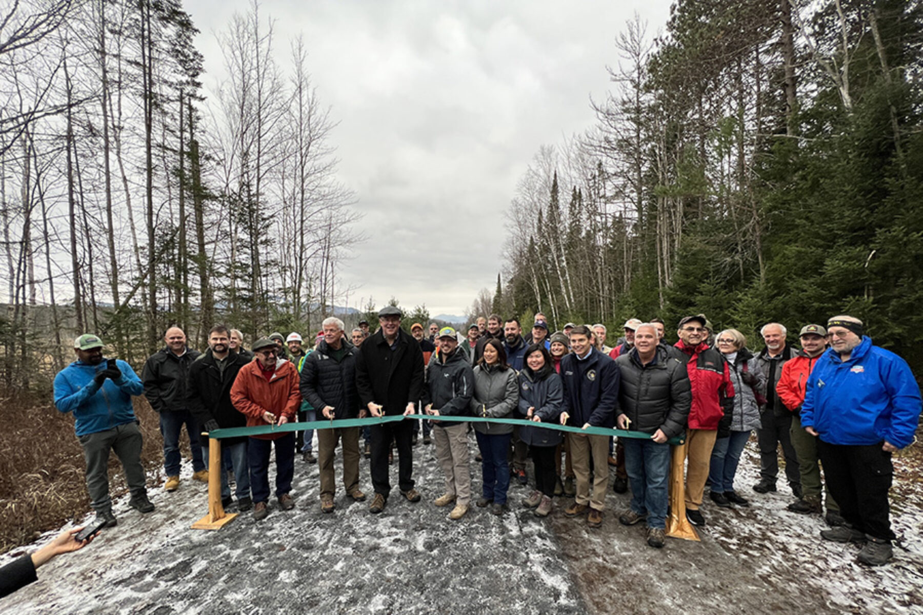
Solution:
{"label": "dry brown grass at left edge behind man photographing", "polygon": [[[143,397],[135,398],[135,413],[144,435],[141,462],[156,469],[163,459],[157,413]],[[0,553],[5,553],[83,516],[90,510],[90,498],[71,415],[35,396],[0,398],[0,425]],[[124,493],[115,455],[109,476],[112,495]]]}

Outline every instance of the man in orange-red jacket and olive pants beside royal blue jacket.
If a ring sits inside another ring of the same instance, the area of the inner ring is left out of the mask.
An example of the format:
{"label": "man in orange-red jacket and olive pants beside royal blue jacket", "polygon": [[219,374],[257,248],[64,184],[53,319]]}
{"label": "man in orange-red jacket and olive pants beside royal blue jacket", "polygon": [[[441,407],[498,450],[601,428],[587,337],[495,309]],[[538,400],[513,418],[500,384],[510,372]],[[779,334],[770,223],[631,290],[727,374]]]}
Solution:
{"label": "man in orange-red jacket and olive pants beside royal blue jacket", "polygon": [[[788,504],[788,510],[800,514],[821,514],[821,467],[818,465],[817,438],[801,428],[801,404],[805,400],[805,391],[808,387],[808,376],[817,360],[827,349],[827,330],[821,325],[804,325],[798,339],[801,349],[795,357],[785,361],[782,375],[775,392],[785,404],[785,408],[792,411],[792,427],[789,434],[792,446],[798,457],[798,470],[801,474],[801,497],[796,502]],[[827,491],[827,524],[842,526],[843,517],[840,516],[840,506],[833,501],[830,491]]]}

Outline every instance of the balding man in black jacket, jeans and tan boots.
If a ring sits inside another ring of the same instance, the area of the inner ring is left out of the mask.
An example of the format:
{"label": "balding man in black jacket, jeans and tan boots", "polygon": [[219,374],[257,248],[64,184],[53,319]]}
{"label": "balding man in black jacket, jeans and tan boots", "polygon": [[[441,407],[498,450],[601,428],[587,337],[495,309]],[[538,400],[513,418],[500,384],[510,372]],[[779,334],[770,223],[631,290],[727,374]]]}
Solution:
{"label": "balding man in black jacket, jeans and tan boots", "polygon": [[179,434],[183,425],[186,425],[189,448],[192,450],[192,478],[201,482],[209,481],[209,471],[205,469],[205,461],[202,459],[198,423],[186,408],[189,366],[198,359],[199,352],[186,346],[186,334],[178,326],[167,329],[163,341],[166,347],[145,362],[141,382],[144,383],[144,396],[148,398],[150,407],[161,416],[163,470],[167,475],[163,489],[176,491],[182,461]]}

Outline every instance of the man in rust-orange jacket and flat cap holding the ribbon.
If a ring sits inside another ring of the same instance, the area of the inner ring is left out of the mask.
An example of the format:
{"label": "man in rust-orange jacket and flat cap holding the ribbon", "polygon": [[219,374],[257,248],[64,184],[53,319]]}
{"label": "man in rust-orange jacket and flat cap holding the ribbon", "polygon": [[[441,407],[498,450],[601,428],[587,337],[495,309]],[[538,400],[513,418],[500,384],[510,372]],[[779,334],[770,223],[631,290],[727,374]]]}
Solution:
{"label": "man in rust-orange jacket and flat cap holding the ribbon", "polygon": [[[293,422],[301,405],[298,370],[291,361],[280,359],[276,343],[268,338],[253,345],[256,361],[240,368],[231,402],[246,415],[247,427],[266,427]],[[294,432],[263,433],[250,436],[247,459],[250,465],[250,489],[253,491],[253,518],[265,519],[270,514],[270,452],[276,445],[276,497],[282,510],[292,510],[294,476]]]}

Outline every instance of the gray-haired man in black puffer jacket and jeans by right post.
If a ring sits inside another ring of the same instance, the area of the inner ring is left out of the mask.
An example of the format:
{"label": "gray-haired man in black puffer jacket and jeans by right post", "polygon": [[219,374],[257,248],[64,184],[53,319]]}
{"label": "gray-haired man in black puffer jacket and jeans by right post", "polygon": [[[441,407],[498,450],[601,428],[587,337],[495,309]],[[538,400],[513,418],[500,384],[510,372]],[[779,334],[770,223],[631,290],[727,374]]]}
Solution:
{"label": "gray-haired man in black puffer jacket and jeans by right post", "polygon": [[647,517],[647,543],[664,546],[669,497],[670,446],[666,441],[686,430],[692,404],[686,365],[657,344],[657,328],[649,323],[635,329],[634,348],[620,355],[617,426],[650,433],[651,439],[619,438],[625,444],[625,469],[631,483],[631,503],[618,516],[632,526]]}

